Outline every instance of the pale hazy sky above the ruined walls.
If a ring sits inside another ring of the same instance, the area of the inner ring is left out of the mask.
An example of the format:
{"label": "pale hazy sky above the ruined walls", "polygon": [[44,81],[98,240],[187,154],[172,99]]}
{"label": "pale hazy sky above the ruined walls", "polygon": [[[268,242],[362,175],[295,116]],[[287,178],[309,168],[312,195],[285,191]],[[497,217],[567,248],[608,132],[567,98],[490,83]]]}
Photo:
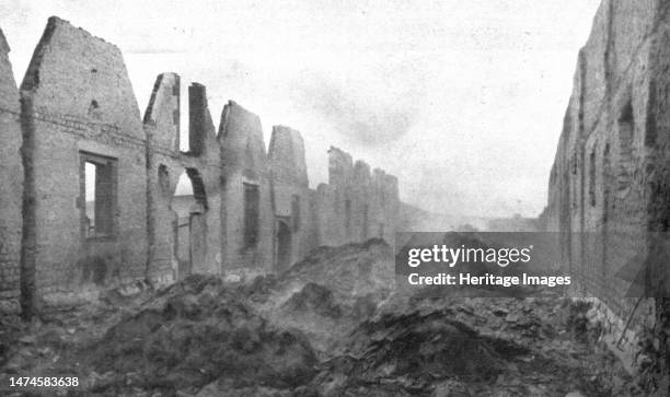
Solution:
{"label": "pale hazy sky above the ruined walls", "polygon": [[266,143],[273,125],[300,130],[313,187],[333,144],[423,208],[536,215],[599,2],[3,0],[0,27],[19,82],[58,15],[120,47],[141,114],[174,71],[207,85],[217,125],[234,100]]}

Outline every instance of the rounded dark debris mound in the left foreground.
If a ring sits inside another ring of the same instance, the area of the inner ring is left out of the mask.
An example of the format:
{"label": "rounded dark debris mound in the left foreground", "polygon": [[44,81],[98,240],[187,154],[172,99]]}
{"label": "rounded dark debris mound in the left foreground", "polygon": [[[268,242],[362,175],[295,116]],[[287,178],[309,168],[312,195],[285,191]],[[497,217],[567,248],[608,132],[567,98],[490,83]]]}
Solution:
{"label": "rounded dark debris mound in the left foreground", "polygon": [[85,365],[106,374],[91,392],[196,393],[217,381],[229,390],[294,388],[316,358],[296,330],[277,329],[215,277],[192,276],[147,302],[90,347]]}

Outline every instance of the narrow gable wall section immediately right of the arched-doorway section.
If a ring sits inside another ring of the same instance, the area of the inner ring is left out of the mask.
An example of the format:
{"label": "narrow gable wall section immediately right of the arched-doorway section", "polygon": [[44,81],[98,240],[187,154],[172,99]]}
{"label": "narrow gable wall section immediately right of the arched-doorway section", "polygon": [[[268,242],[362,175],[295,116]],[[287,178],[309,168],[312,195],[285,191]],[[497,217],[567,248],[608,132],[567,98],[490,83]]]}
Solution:
{"label": "narrow gable wall section immediately right of the arched-doorway section", "polygon": [[269,272],[274,217],[261,119],[230,101],[221,114],[219,143],[224,273]]}

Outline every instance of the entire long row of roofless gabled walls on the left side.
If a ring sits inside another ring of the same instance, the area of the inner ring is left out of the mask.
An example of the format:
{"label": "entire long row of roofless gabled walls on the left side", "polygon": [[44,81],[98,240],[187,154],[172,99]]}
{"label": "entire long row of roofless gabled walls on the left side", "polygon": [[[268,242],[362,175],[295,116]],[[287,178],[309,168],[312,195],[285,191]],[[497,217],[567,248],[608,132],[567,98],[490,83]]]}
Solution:
{"label": "entire long row of roofless gabled walls on the left side", "polygon": [[[319,245],[393,238],[396,178],[338,149],[330,183],[310,189],[300,132],[275,127],[266,152],[261,119],[232,101],[217,130],[206,87],[183,97],[175,73],[158,77],[142,118],[119,49],[58,17],[20,90],[8,52],[0,33],[2,311],[32,285],[63,300],[195,272],[244,279]],[[183,173],[195,200],[187,227],[175,212]]]}

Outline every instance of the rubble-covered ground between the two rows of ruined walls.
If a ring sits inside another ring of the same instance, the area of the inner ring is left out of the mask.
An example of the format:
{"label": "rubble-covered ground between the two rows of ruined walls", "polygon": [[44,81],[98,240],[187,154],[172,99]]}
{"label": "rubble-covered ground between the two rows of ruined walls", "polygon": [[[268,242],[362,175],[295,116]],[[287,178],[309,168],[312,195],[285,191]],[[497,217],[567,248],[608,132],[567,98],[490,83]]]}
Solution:
{"label": "rubble-covered ground between the two rows of ruined walls", "polygon": [[279,278],[140,287],[30,327],[3,317],[2,376],[76,375],[81,395],[108,396],[636,394],[588,306],[402,295],[378,240],[319,248]]}

